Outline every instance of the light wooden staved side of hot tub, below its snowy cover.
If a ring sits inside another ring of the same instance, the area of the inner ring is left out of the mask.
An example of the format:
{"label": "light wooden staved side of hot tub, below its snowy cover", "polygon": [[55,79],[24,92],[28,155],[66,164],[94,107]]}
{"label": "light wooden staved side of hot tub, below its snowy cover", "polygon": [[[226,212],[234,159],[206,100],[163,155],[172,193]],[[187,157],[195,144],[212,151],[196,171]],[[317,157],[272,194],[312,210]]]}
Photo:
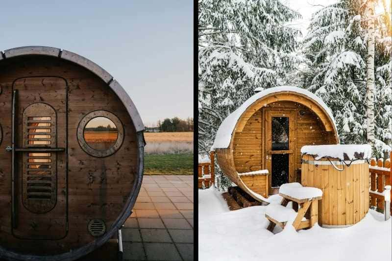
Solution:
{"label": "light wooden staved side of hot tub, below its snowy cover", "polygon": [[[303,159],[314,161],[310,155],[304,155]],[[319,161],[328,160],[321,158]],[[367,161],[344,166],[343,171],[337,170],[330,164],[316,166],[303,163],[301,183],[304,187],[322,190],[322,199],[319,200],[320,225],[352,225],[361,221],[368,213],[369,165]]]}

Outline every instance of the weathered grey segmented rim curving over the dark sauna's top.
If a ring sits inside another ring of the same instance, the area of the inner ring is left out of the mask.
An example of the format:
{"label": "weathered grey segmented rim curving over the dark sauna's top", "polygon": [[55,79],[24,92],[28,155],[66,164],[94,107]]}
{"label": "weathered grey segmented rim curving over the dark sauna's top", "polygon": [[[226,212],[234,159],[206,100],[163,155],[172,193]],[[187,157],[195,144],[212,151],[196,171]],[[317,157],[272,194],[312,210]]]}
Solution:
{"label": "weathered grey segmented rim curving over the dark sauna's top", "polygon": [[59,48],[46,47],[46,46],[25,46],[25,47],[8,49],[5,50],[4,52],[0,52],[0,60],[12,58],[12,57],[24,56],[24,55],[46,55],[46,56],[58,57],[60,59],[64,59],[73,62],[75,64],[78,64],[79,66],[93,72],[100,79],[102,79],[106,84],[108,84],[109,87],[115,92],[115,94],[123,102],[126,110],[128,111],[128,114],[131,116],[136,132],[144,131],[143,121],[140,118],[139,112],[136,109],[129,95],[125,92],[121,84],[117,82],[109,72],[105,71],[98,64],[71,51],[61,50]]}

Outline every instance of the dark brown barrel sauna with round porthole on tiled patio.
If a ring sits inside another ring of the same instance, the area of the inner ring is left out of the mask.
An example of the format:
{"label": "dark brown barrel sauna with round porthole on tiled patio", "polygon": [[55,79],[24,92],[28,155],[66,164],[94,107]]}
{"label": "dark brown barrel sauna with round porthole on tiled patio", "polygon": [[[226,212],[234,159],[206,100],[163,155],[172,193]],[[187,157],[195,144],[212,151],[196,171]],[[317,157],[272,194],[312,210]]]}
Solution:
{"label": "dark brown barrel sauna with round porthole on tiled patio", "polygon": [[132,212],[144,125],[123,87],[53,47],[0,53],[0,258],[66,261]]}

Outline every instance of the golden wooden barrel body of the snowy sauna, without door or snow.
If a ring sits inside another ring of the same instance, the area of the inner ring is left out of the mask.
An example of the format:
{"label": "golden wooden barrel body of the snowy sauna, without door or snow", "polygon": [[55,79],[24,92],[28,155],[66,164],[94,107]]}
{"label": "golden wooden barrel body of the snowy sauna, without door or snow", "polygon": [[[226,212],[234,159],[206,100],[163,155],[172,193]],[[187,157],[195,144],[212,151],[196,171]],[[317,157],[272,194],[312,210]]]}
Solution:
{"label": "golden wooden barrel body of the snowy sauna, without door or snow", "polygon": [[[257,193],[263,196],[268,196],[266,188],[270,184],[266,182],[270,175],[240,178],[237,172],[244,173],[267,168],[264,160],[267,153],[265,135],[266,124],[271,123],[266,121],[266,110],[294,112],[294,126],[290,126],[291,129],[295,129],[290,137],[290,148],[294,147],[292,156],[294,159],[294,171],[292,172],[294,173],[290,173],[290,182],[297,179],[297,170],[301,168],[302,146],[338,143],[338,136],[334,131],[332,121],[316,103],[306,100],[301,95],[272,95],[253,103],[237,122],[229,148],[216,149],[216,155],[223,173],[235,184],[245,191],[248,188],[254,192],[260,191]],[[251,192],[248,193],[254,197]]]}

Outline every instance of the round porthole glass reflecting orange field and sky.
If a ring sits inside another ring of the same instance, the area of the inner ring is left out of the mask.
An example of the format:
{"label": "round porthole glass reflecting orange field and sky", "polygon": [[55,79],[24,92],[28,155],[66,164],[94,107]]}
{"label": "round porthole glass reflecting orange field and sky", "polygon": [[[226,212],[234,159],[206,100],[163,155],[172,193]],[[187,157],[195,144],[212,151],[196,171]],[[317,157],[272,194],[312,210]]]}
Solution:
{"label": "round porthole glass reflecting orange field and sky", "polygon": [[107,150],[116,143],[117,126],[105,117],[91,119],[84,128],[84,140],[93,149]]}

